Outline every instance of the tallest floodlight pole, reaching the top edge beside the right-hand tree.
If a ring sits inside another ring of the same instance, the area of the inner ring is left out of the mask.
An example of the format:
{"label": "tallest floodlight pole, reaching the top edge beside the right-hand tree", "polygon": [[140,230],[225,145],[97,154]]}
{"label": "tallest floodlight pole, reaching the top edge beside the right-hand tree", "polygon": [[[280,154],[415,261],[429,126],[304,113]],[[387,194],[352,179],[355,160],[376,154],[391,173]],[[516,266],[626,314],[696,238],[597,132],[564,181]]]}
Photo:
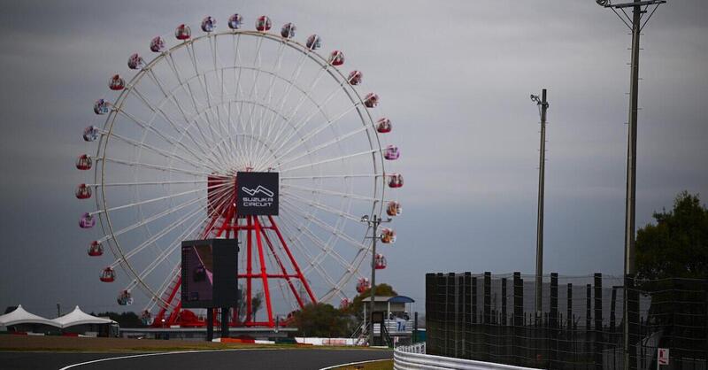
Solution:
{"label": "tallest floodlight pole, reaching the top edge beside the right-hand tree", "polygon": [[[629,27],[632,31],[632,63],[629,77],[629,125],[627,130],[627,197],[625,199],[626,218],[625,218],[625,258],[624,258],[624,277],[625,290],[622,303],[623,315],[623,350],[624,350],[624,369],[634,370],[636,362],[630,360],[630,353],[635,352],[635,345],[630,345],[630,331],[636,334],[636,321],[638,321],[638,299],[637,293],[632,289],[636,274],[635,266],[635,204],[636,204],[636,131],[637,131],[637,112],[638,112],[638,94],[639,94],[639,36],[642,33],[651,16],[657,11],[658,5],[666,4],[666,0],[644,0],[634,1],[622,4],[612,4],[612,0],[596,0],[596,3],[604,8],[609,8],[614,12],[620,20]],[[626,8],[632,8],[633,14],[630,18]],[[643,20],[643,15],[651,12],[647,19]],[[619,10],[619,12],[618,12]],[[621,14],[620,14],[621,12]],[[624,16],[624,17],[623,17]],[[635,305],[634,310],[630,310],[629,304]],[[634,319],[631,316],[634,316]],[[631,322],[630,322],[631,321]]]}

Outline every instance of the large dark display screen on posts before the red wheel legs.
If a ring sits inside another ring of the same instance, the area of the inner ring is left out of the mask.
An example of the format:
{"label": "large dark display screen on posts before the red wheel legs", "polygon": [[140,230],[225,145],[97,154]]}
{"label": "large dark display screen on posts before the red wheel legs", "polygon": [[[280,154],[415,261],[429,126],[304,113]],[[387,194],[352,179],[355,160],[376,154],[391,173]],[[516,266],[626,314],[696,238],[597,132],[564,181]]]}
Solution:
{"label": "large dark display screen on posts before the red wheel legs", "polygon": [[235,306],[238,297],[237,255],[234,239],[182,242],[182,307]]}

